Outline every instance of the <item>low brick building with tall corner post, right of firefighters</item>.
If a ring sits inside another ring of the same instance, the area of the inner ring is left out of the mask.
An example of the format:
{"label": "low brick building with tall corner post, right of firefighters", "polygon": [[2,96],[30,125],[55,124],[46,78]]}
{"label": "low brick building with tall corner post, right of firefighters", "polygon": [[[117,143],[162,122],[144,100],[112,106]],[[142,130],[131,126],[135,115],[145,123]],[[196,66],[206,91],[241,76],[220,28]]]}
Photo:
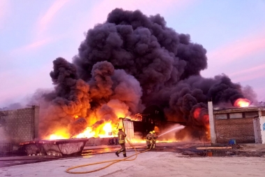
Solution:
{"label": "low brick building with tall corner post, right of firefighters", "polygon": [[265,143],[265,106],[213,107],[209,101],[211,143]]}

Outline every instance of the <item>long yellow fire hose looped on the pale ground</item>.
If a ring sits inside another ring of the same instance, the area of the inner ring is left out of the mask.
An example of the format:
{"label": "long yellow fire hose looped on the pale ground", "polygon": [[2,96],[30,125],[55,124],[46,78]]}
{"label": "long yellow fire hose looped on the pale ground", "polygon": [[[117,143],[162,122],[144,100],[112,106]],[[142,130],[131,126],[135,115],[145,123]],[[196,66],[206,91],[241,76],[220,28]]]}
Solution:
{"label": "long yellow fire hose looped on the pale ground", "polygon": [[[128,141],[128,139],[126,139]],[[102,162],[96,162],[96,163],[91,163],[91,164],[82,164],[82,165],[78,165],[78,166],[75,166],[75,167],[70,167],[68,169],[66,169],[66,173],[68,174],[89,174],[89,173],[92,173],[92,172],[95,172],[95,171],[100,171],[102,169],[105,169],[109,166],[111,166],[112,164],[116,164],[118,162],[121,162],[121,161],[132,161],[132,160],[135,160],[137,158],[137,155],[140,154],[140,153],[145,153],[146,151],[150,150],[153,146],[153,143],[151,144],[151,148],[147,149],[147,150],[144,150],[142,152],[137,152],[135,146],[132,145],[132,143],[130,143],[130,141],[128,141],[128,143],[130,144],[130,146],[132,146],[132,148],[135,149],[135,154],[134,155],[130,155],[126,158],[123,158],[121,160],[107,160],[107,161],[102,161]],[[131,160],[128,160],[130,157],[133,157],[135,156],[135,158],[131,159]],[[105,167],[102,167],[102,168],[99,168],[99,169],[94,169],[94,170],[91,170],[91,171],[70,171],[72,169],[77,169],[77,168],[80,168],[80,167],[86,167],[86,166],[91,166],[91,165],[94,165],[94,164],[104,164],[104,163],[107,163],[107,162],[111,162],[110,164],[107,164]]]}

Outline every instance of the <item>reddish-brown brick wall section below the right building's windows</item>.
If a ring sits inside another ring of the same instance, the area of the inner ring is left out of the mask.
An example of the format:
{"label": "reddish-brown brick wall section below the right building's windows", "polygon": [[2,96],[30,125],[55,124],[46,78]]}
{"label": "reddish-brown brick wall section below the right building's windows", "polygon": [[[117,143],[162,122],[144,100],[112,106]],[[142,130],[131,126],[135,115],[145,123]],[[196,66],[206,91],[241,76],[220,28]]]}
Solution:
{"label": "reddish-brown brick wall section below the right building's windows", "polygon": [[215,120],[215,132],[217,143],[255,143],[253,118]]}

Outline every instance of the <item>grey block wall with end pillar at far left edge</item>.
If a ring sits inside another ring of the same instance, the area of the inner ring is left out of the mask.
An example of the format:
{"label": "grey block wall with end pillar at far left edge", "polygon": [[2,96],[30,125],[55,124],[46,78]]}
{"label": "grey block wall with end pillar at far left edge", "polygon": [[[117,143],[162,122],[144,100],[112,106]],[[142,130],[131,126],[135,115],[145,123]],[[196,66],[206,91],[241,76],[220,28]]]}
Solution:
{"label": "grey block wall with end pillar at far left edge", "polygon": [[0,111],[0,126],[3,129],[2,136],[5,136],[3,140],[16,144],[38,138],[38,113],[39,106]]}

